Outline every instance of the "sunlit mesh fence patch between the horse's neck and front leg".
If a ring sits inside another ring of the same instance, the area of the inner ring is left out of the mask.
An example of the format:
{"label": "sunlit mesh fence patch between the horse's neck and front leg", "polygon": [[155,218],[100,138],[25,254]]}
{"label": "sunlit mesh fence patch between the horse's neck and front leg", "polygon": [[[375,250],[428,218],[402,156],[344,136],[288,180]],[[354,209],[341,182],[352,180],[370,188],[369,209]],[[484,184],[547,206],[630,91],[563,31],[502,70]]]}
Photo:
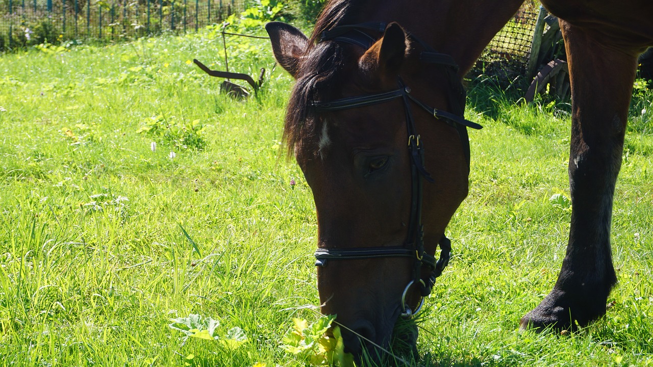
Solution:
{"label": "sunlit mesh fence patch between the horse's neck and front leg", "polygon": [[513,80],[526,75],[537,14],[539,1],[526,1],[483,50],[470,76],[486,74]]}

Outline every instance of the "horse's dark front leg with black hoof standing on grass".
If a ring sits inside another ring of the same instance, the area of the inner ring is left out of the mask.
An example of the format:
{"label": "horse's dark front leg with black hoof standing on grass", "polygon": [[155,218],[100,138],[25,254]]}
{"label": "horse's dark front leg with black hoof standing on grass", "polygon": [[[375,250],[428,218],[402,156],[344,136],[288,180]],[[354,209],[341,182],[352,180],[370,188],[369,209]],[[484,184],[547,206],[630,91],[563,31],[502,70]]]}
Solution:
{"label": "horse's dark front leg with black hoof standing on grass", "polygon": [[573,114],[569,155],[571,229],[558,281],[520,328],[574,329],[605,314],[616,283],[610,247],[614,184],[621,167],[637,50],[560,21]]}

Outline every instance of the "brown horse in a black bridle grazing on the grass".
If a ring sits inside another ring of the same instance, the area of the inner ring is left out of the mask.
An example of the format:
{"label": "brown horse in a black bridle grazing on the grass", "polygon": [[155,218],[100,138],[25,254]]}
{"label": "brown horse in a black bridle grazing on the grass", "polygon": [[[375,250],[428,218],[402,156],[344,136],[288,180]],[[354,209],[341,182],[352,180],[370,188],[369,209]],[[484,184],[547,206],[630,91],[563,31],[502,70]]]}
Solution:
{"label": "brown horse in a black bridle grazing on the grass", "polygon": [[[311,39],[266,27],[296,78],[284,136],[317,208],[322,311],[353,330],[343,332],[349,351],[387,345],[447,263],[445,228],[468,193],[465,127],[476,127],[462,118],[460,82],[521,2],[334,0]],[[605,313],[616,282],[614,185],[653,1],[543,3],[567,47],[573,212],[558,281],[521,326],[574,328]]]}

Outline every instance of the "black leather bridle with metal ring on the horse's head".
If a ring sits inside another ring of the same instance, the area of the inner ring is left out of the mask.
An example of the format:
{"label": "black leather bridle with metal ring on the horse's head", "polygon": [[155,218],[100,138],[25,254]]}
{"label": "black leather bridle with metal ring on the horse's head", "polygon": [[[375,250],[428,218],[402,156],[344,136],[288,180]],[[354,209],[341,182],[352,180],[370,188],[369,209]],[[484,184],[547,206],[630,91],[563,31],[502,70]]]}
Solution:
{"label": "black leather bridle with metal ring on the horse's head", "polygon": [[[365,31],[378,31],[383,33],[387,27],[385,23],[363,23],[355,25],[340,25],[325,31],[322,34],[321,41],[333,40],[335,42],[345,42],[363,47],[365,50],[370,48],[376,41]],[[451,257],[451,241],[445,235],[439,240],[440,247],[439,259],[424,251],[424,225],[422,225],[422,179],[428,182],[434,182],[434,179],[424,168],[424,148],[417,130],[415,129],[415,120],[411,111],[411,101],[420,108],[426,110],[434,118],[443,119],[447,124],[453,126],[458,131],[460,140],[463,144],[463,150],[466,154],[467,163],[470,164],[470,145],[467,135],[467,127],[472,129],[481,129],[481,125],[465,120],[463,117],[465,106],[465,92],[458,80],[456,74],[458,65],[453,57],[447,54],[436,52],[431,46],[422,42],[421,39],[409,35],[412,40],[421,44],[424,51],[420,54],[420,59],[424,63],[432,63],[443,69],[449,81],[448,97],[449,109],[453,111],[446,112],[432,108],[422,103],[413,95],[411,89],[404,84],[402,78],[397,76],[398,88],[383,93],[369,95],[360,95],[357,97],[347,97],[335,99],[333,101],[311,101],[311,106],[317,111],[332,112],[338,110],[348,110],[362,106],[371,106],[374,104],[385,103],[394,99],[401,98],[404,102],[404,111],[406,112],[406,125],[408,137],[408,150],[411,163],[411,210],[409,224],[407,227],[407,237],[404,246],[392,247],[353,247],[353,248],[328,248],[317,249],[315,251],[315,265],[327,266],[328,261],[336,260],[357,260],[357,259],[379,259],[387,257],[407,257],[414,259],[412,279],[406,285],[402,293],[401,307],[402,317],[412,317],[421,310],[424,305],[424,298],[430,295],[432,288],[445,266],[449,263]],[[426,279],[422,279],[422,266],[428,266],[431,273]],[[420,287],[421,301],[415,311],[412,311],[406,304],[406,295],[413,287]]]}

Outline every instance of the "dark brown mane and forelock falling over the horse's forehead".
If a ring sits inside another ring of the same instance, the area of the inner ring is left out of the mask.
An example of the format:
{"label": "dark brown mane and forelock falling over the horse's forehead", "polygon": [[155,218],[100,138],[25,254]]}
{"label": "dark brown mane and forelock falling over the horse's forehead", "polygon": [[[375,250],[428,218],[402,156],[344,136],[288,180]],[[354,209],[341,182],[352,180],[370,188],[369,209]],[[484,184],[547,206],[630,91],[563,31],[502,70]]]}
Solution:
{"label": "dark brown mane and forelock falling over the horse's forehead", "polygon": [[331,41],[319,42],[320,36],[323,31],[338,25],[355,24],[357,20],[353,14],[358,12],[352,10],[359,8],[362,3],[364,0],[330,1],[315,23],[300,66],[301,77],[293,87],[286,111],[283,142],[288,157],[298,144],[310,142],[315,138],[315,132],[321,131],[322,126],[316,125],[321,119],[315,118],[310,103],[332,99],[338,84],[333,81],[339,80],[338,76],[342,74],[345,65],[342,46]]}

